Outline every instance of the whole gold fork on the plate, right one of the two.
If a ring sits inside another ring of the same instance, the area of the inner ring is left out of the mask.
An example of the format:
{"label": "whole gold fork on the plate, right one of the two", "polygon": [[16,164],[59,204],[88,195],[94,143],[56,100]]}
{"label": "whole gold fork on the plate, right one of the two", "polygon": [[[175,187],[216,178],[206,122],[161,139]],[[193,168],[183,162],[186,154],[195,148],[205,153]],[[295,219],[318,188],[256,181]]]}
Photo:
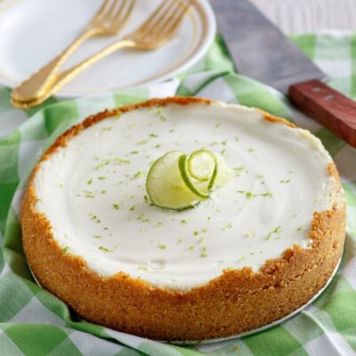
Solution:
{"label": "whole gold fork on the plate, right one of the two", "polygon": [[142,26],[121,40],[109,44],[103,50],[95,53],[85,61],[57,74],[53,85],[41,97],[27,102],[16,101],[12,98],[12,105],[26,109],[41,104],[53,95],[53,93],[58,92],[63,85],[66,85],[71,79],[77,77],[83,70],[121,48],[131,47],[150,51],[160,47],[174,35],[184,15],[188,12],[189,7],[190,0],[165,0]]}

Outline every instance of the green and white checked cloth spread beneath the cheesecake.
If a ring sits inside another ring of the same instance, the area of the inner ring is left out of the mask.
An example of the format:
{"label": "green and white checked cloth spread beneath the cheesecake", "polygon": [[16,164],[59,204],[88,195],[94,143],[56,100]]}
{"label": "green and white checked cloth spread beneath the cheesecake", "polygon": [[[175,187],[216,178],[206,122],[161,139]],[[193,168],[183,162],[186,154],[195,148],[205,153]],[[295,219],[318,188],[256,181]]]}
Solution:
{"label": "green and white checked cloth spread beneath the cheesecake", "polygon": [[[356,99],[356,35],[328,32],[293,40],[333,78],[330,85]],[[36,159],[59,134],[92,113],[174,93],[239,102],[292,119],[319,136],[336,160],[348,206],[343,261],[318,300],[278,327],[210,345],[161,344],[76,320],[28,271],[19,209]],[[12,109],[9,94],[0,88],[0,355],[356,354],[356,150],[292,109],[281,93],[235,74],[220,37],[189,73],[160,85],[75,101],[51,99],[27,111]]]}

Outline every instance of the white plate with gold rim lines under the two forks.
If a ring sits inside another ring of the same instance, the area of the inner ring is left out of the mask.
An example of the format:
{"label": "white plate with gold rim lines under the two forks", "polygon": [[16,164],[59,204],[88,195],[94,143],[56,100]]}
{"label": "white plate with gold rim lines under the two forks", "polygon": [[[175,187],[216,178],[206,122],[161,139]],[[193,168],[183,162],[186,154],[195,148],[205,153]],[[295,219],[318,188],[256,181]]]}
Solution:
{"label": "white plate with gold rim lines under the two forks", "polygon": [[[3,0],[0,2],[0,83],[18,85],[53,59],[80,33],[102,4],[98,0]],[[85,59],[139,26],[162,0],[137,0],[125,31],[94,37],[69,58],[63,69]],[[192,9],[165,46],[151,52],[122,50],[94,64],[57,95],[76,97],[117,88],[149,85],[182,73],[214,40],[215,20],[207,0]]]}

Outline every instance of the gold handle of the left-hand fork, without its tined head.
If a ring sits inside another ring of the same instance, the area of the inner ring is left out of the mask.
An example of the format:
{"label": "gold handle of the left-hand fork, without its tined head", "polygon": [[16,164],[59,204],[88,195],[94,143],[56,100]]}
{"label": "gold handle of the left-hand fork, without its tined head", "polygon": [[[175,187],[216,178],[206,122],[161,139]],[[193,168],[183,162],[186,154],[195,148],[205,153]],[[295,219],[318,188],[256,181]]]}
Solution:
{"label": "gold handle of the left-hand fork, without its tined head", "polygon": [[97,33],[95,29],[88,29],[78,36],[69,46],[43,68],[36,71],[31,77],[12,90],[11,96],[14,101],[34,101],[44,95],[45,91],[53,85],[56,73],[61,65],[67,61],[80,44]]}

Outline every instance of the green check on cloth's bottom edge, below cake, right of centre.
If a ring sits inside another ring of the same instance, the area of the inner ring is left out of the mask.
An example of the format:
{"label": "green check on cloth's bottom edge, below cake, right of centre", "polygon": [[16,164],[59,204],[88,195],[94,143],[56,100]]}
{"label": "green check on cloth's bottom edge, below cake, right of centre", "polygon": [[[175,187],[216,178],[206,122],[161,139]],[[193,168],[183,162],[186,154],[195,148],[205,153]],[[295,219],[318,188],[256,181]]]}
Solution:
{"label": "green check on cloth's bottom edge, below cake, right of centre", "polygon": [[301,356],[307,355],[303,345],[281,327],[271,328],[255,336],[246,336],[242,340],[255,356],[287,355],[296,351]]}

